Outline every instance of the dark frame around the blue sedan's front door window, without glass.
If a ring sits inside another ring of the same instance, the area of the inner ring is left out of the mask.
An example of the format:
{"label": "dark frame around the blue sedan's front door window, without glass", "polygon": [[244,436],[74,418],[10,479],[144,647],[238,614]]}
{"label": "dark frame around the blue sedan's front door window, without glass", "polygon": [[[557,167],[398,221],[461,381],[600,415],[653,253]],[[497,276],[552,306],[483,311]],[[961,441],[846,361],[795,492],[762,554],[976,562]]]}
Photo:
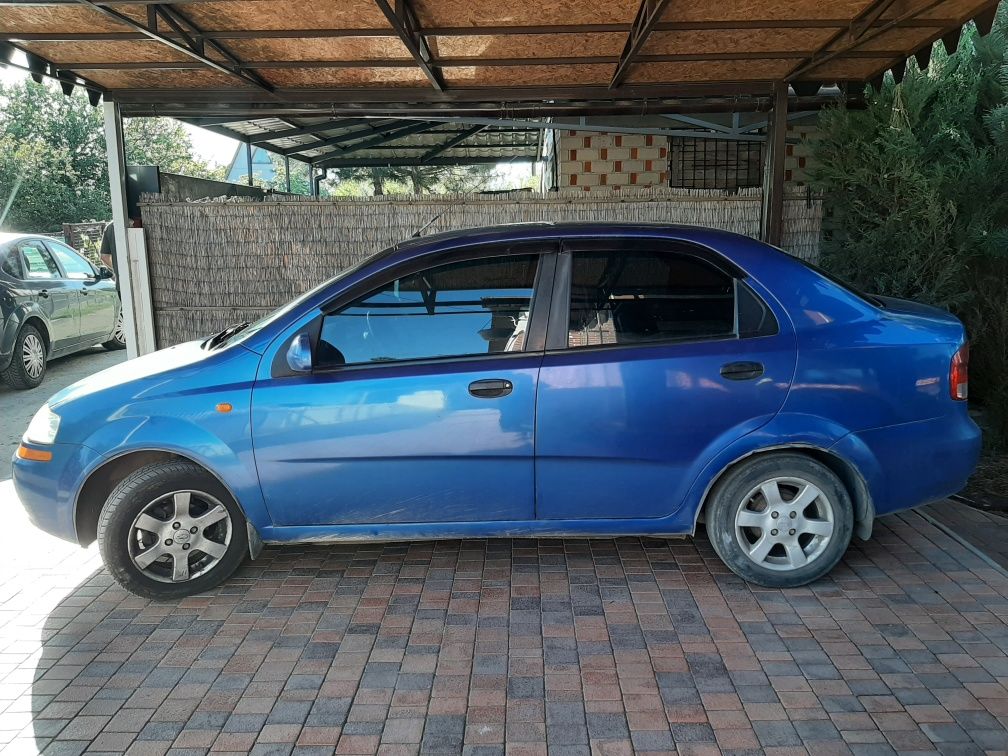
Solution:
{"label": "dark frame around the blue sedan's front door window, without glass", "polygon": [[[528,357],[533,354],[542,354],[545,350],[546,342],[546,322],[548,319],[550,299],[553,292],[554,274],[556,268],[556,254],[558,242],[556,241],[519,241],[507,243],[479,244],[465,247],[453,247],[447,250],[439,250],[433,254],[420,255],[395,265],[380,274],[367,276],[363,280],[350,286],[345,291],[335,295],[326,301],[321,309],[322,313],[314,318],[310,324],[301,329],[298,334],[292,335],[296,338],[299,334],[306,334],[311,343],[312,366],[310,375],[330,375],[345,371],[360,370],[389,370],[404,366],[420,365],[445,365],[454,363],[475,362],[480,360],[511,360]],[[450,355],[443,357],[422,357],[411,360],[389,360],[385,362],[365,362],[352,363],[350,365],[330,365],[320,366],[314,364],[318,354],[319,341],[322,336],[323,320],[333,314],[343,307],[352,304],[355,300],[376,291],[398,278],[402,278],[413,273],[419,273],[430,268],[450,265],[456,262],[469,262],[473,260],[483,260],[492,257],[536,255],[538,264],[535,276],[532,281],[532,301],[528,317],[528,330],[525,335],[525,346],[520,352],[498,352],[496,354],[477,355]],[[289,340],[287,340],[289,342]],[[274,378],[282,376],[294,376],[304,373],[294,373],[286,364],[286,349],[280,349],[276,353],[271,366],[271,374]]]}

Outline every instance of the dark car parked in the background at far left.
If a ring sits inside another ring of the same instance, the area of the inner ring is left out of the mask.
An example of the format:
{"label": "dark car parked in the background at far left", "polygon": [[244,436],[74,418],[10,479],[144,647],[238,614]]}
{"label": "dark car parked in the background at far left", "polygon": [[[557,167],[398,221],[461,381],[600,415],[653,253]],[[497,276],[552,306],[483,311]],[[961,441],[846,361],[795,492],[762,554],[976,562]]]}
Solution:
{"label": "dark car parked in the background at far left", "polygon": [[49,360],[96,344],[126,348],[112,271],[54,239],[0,234],[0,378],[34,388]]}

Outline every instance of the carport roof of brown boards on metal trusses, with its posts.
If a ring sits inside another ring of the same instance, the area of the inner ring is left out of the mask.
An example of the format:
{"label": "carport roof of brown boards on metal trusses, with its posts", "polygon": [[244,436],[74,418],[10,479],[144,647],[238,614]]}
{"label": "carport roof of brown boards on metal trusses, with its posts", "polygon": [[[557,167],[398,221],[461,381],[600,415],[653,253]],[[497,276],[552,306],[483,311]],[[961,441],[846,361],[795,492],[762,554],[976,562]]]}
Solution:
{"label": "carport roof of brown boards on metal trusses, with its posts", "polygon": [[[887,71],[899,80],[909,57],[926,66],[935,40],[955,49],[965,22],[989,29],[996,7],[21,0],[0,5],[0,55],[19,49],[36,79],[104,100],[120,249],[130,116],[180,118],[282,155],[288,175],[294,159],[318,176],[349,165],[535,159],[547,130],[605,132],[614,130],[607,118],[653,114],[670,119],[653,131],[660,138],[765,142],[760,233],[779,243],[788,113],[856,105],[866,82]],[[728,114],[729,127],[713,114]],[[740,129],[741,114],[755,127]],[[143,299],[145,270],[128,272],[124,297]],[[146,320],[142,301],[127,309]]]}

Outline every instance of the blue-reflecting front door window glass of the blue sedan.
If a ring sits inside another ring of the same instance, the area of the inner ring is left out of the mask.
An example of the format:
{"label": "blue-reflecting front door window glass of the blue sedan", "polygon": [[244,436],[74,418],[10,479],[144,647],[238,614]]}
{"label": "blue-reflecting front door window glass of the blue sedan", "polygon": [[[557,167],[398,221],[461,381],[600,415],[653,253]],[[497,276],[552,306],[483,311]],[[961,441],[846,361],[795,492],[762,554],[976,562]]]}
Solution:
{"label": "blue-reflecting front door window glass of the blue sedan", "polygon": [[537,255],[450,263],[323,319],[319,367],[521,352]]}

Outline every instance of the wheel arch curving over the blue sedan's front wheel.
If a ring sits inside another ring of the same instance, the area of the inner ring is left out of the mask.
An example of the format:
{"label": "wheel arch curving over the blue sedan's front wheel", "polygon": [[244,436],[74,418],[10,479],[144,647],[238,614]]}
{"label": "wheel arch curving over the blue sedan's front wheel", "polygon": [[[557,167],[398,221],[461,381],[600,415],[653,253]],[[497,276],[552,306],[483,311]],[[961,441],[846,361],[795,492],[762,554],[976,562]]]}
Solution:
{"label": "wheel arch curving over the blue sedan's front wheel", "polygon": [[82,546],[87,546],[95,542],[95,539],[98,537],[98,520],[101,517],[102,508],[105,506],[106,501],[108,501],[113,489],[126,476],[147,465],[171,461],[188,462],[205,470],[217,479],[242,511],[242,515],[245,517],[246,528],[248,529],[249,553],[252,558],[258,556],[262,550],[262,538],[249,519],[241,500],[235,496],[235,492],[231,486],[199,460],[178,454],[177,452],[159,449],[123,452],[120,455],[103,461],[102,464],[88,474],[74,502],[74,527],[78,543]]}

